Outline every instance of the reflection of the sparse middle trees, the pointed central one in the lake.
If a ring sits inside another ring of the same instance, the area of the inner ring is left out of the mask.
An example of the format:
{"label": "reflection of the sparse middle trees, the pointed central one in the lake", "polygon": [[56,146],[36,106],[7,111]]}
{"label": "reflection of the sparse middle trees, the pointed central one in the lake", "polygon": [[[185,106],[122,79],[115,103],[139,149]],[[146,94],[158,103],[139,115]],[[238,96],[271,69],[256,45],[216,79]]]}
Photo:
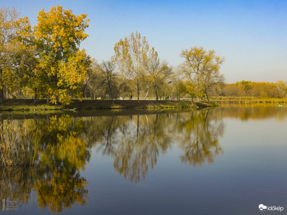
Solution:
{"label": "reflection of the sparse middle trees, the pointed central one in the lake", "polygon": [[132,182],[144,179],[159,151],[170,146],[172,138],[164,135],[162,126],[165,120],[165,115],[158,113],[83,118],[87,137],[98,151],[111,155],[115,170]]}

